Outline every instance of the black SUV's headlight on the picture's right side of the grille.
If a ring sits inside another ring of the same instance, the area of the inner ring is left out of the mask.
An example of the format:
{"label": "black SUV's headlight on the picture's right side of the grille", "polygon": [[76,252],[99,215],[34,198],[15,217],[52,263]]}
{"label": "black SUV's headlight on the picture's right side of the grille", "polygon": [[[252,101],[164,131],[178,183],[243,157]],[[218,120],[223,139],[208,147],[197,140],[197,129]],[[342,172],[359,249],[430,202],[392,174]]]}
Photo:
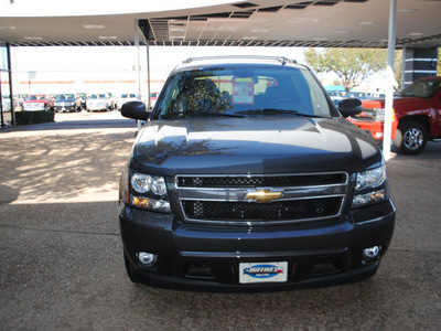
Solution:
{"label": "black SUV's headlight on the picture's right side of the grille", "polygon": [[386,166],[357,173],[353,207],[380,202],[387,199]]}

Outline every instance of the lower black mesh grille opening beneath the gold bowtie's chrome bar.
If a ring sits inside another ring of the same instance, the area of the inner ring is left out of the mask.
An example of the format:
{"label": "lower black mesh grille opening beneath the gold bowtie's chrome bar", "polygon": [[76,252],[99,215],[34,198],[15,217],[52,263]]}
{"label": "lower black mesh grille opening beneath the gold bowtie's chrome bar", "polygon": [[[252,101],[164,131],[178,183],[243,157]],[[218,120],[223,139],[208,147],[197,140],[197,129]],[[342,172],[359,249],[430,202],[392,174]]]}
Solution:
{"label": "lower black mesh grille opening beneath the gold bowtie's chrome bar", "polygon": [[332,216],[341,203],[342,197],[333,196],[270,203],[183,201],[182,206],[192,220],[266,222]]}

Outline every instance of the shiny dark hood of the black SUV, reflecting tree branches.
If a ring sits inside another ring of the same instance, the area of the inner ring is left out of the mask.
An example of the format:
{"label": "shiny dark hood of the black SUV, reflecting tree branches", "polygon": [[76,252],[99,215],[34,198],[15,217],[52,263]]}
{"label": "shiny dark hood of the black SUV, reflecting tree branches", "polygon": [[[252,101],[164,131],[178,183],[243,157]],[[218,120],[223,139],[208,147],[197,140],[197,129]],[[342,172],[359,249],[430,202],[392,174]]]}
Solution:
{"label": "shiny dark hood of the black SUV, reflecting tree branches", "polygon": [[343,118],[155,120],[133,145],[132,169],[153,174],[358,171],[381,162],[377,145]]}

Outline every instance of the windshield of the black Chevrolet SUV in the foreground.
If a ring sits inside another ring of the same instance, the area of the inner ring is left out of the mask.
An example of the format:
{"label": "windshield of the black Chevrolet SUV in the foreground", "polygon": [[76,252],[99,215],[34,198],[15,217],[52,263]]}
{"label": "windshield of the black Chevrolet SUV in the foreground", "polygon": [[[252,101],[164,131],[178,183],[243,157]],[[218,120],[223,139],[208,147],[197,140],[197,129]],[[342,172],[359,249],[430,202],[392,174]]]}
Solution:
{"label": "windshield of the black Chevrolet SUV in the foreground", "polygon": [[276,114],[330,117],[331,111],[309,71],[237,66],[178,72],[168,81],[155,114],[176,119]]}

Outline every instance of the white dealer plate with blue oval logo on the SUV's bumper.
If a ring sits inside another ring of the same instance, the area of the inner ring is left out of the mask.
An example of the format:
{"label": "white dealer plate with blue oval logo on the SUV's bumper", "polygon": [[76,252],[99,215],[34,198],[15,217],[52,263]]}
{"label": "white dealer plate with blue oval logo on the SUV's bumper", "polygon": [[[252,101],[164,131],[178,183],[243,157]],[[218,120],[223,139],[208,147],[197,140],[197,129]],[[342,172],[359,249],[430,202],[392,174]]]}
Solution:
{"label": "white dealer plate with blue oval logo on the SUV's bumper", "polygon": [[239,264],[239,282],[283,282],[288,279],[288,263],[241,263]]}

